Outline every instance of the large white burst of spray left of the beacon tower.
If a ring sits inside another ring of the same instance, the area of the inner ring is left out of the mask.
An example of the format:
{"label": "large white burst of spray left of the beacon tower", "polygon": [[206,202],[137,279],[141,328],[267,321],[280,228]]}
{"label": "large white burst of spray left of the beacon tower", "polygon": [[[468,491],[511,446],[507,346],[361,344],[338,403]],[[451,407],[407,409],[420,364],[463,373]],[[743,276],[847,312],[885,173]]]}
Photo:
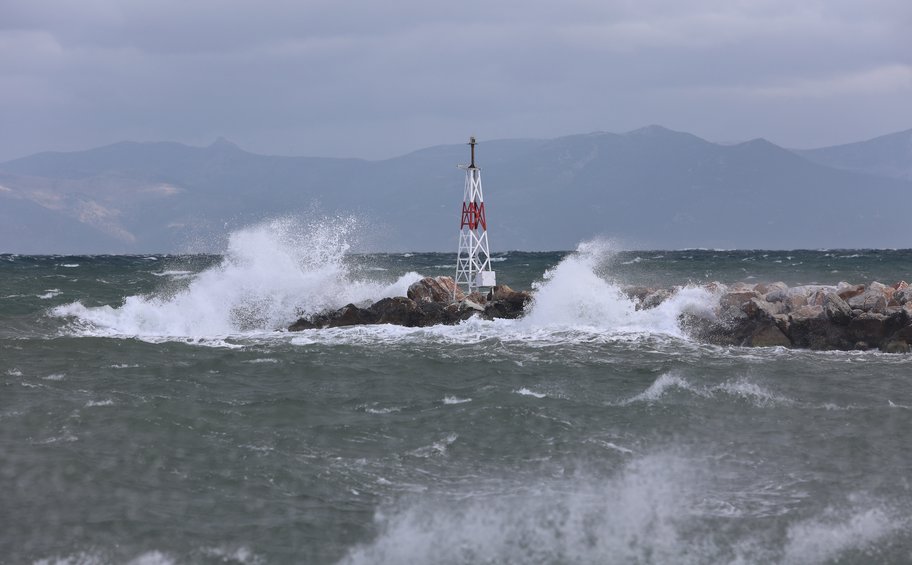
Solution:
{"label": "large white burst of spray left of the beacon tower", "polygon": [[119,307],[75,302],[51,313],[87,334],[200,338],[282,329],[296,316],[405,294],[419,275],[356,279],[345,256],[357,222],[282,218],[234,232],[222,261],[186,287],[128,296]]}

